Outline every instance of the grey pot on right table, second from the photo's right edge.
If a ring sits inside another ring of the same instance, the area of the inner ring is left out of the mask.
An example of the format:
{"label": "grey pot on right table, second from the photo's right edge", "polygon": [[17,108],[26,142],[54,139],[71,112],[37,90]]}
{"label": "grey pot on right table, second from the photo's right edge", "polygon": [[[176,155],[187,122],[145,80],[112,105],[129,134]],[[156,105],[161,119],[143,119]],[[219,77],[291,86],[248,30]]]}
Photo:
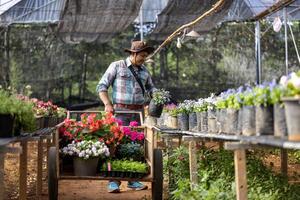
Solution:
{"label": "grey pot on right table, second from the photo's right edge", "polygon": [[284,138],[287,136],[285,108],[283,105],[274,105],[274,136]]}

